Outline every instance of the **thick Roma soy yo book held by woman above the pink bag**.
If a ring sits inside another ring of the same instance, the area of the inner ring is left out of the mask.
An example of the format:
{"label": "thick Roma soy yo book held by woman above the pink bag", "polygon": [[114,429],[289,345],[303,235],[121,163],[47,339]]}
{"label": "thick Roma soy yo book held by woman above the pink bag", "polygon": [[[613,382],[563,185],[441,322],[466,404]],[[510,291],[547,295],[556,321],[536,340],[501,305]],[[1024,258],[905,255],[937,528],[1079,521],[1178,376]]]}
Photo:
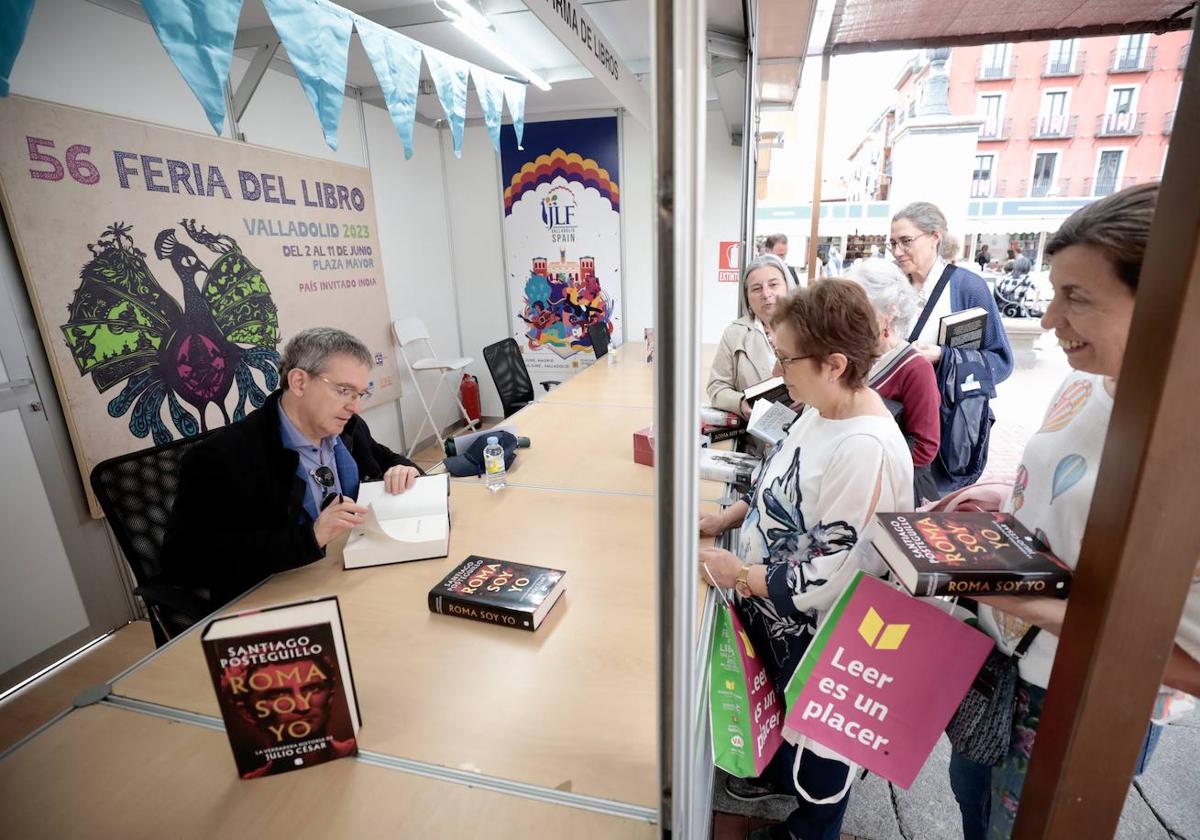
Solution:
{"label": "thick Roma soy yo book held by woman above the pink bag", "polygon": [[1070,568],[1012,514],[878,514],[871,542],[913,595],[1066,598]]}

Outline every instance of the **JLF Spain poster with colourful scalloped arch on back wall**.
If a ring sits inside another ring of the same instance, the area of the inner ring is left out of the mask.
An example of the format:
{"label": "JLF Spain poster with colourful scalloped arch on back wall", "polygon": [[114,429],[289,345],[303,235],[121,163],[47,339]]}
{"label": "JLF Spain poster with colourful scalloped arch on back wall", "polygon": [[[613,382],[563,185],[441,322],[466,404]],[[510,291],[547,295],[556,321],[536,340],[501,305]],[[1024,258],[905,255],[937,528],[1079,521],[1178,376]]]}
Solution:
{"label": "JLF Spain poster with colourful scalloped arch on back wall", "polygon": [[589,328],[623,341],[617,118],[529,122],[500,136],[512,335],[535,380],[595,361]]}

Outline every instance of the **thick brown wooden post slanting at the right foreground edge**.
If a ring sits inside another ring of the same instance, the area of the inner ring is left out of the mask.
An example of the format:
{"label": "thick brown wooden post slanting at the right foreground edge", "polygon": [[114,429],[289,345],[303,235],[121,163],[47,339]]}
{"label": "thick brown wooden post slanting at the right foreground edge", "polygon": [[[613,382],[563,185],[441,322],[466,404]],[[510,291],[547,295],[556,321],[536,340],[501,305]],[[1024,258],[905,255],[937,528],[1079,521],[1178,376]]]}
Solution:
{"label": "thick brown wooden post slanting at the right foreground edge", "polygon": [[1112,836],[1200,557],[1196,148],[1193,54],[1016,840]]}

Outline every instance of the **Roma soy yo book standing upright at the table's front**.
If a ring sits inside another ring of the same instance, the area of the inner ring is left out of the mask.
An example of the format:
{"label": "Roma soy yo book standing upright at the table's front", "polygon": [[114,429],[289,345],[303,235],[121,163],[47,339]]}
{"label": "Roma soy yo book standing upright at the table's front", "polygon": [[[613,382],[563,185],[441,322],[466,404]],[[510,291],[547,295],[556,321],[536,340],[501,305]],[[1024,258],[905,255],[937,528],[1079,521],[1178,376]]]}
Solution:
{"label": "Roma soy yo book standing upright at the table's front", "polygon": [[336,598],[216,618],[202,643],[239,776],[358,754],[361,718]]}

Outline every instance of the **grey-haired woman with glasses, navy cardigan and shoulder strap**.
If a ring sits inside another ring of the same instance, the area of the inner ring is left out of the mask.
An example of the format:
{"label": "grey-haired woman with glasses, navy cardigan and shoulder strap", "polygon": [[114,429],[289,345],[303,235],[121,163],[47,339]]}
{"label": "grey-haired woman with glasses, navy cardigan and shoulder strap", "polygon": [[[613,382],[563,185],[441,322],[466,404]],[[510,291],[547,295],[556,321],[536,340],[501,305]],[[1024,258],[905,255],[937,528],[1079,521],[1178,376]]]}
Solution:
{"label": "grey-haired woman with glasses, navy cardigan and shoulder strap", "polygon": [[[892,217],[888,240],[896,265],[918,295],[918,316],[908,329],[908,341],[937,368],[942,442],[932,469],[942,493],[965,487],[983,473],[992,420],[986,401],[1013,372],[1013,348],[996,301],[982,277],[942,259],[946,235],[942,211],[929,202],[914,202]],[[942,318],[974,307],[988,313],[980,346],[938,346]]]}

